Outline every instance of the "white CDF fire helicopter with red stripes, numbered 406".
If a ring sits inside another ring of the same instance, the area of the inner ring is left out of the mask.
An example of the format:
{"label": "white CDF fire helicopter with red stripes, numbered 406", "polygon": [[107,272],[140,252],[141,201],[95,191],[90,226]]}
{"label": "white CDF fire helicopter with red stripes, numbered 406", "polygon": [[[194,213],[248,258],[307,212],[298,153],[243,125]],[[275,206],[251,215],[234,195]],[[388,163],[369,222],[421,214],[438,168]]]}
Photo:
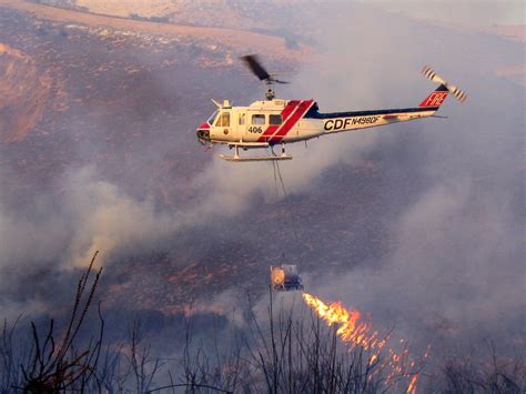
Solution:
{"label": "white CDF fire helicopter with red stripes, numbered 406", "polygon": [[[265,100],[254,101],[249,107],[232,107],[229,100],[224,100],[223,103],[212,100],[218,110],[196,129],[201,144],[212,147],[219,143],[234,149],[233,155],[220,154],[221,159],[231,162],[291,160],[292,156],[285,152],[286,143],[435,117],[435,112],[449,93],[461,102],[464,102],[467,97],[465,92],[449,84],[426,65],[422,73],[439,85],[418,107],[322,113],[312,99],[276,99],[272,89],[273,84],[289,82],[271,75],[256,54],[244,55],[241,59],[252,73],[267,85]],[[281,145],[281,154],[274,153],[275,145]],[[271,154],[243,156],[240,154],[240,148],[245,151],[270,148]]]}

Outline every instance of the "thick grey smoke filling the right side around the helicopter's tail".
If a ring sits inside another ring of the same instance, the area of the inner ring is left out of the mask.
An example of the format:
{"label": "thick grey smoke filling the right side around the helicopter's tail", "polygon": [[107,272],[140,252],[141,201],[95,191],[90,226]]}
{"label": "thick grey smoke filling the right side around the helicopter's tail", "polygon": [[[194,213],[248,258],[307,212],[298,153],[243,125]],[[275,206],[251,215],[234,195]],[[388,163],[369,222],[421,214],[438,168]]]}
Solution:
{"label": "thick grey smoke filling the right side around the helicopter's tail", "polygon": [[[386,162],[407,173],[407,183],[419,182],[392,186],[394,203],[401,193],[413,193],[409,204],[393,208],[393,245],[371,266],[307,275],[308,291],[371,312],[381,327],[396,326],[423,345],[451,350],[483,337],[502,346],[524,343],[524,89],[495,73],[523,63],[524,46],[365,7],[348,11],[331,20],[321,68],[342,82],[322,87],[323,73],[310,78],[315,97],[338,103],[360,98],[367,107],[370,100],[383,107],[416,103],[416,93],[426,89],[416,71],[429,63],[469,98],[464,105],[448,99],[441,110],[446,120],[378,131],[375,152],[384,150]],[[352,83],[356,74],[363,79]],[[409,133],[406,145],[394,149],[403,133]],[[358,137],[341,135],[338,143],[353,139]]]}

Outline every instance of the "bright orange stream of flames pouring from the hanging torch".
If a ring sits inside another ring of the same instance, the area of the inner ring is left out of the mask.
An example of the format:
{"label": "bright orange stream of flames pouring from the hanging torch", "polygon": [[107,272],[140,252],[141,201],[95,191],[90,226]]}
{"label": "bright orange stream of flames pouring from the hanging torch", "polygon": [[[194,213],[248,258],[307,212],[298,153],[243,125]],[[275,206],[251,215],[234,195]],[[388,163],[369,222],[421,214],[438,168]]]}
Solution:
{"label": "bright orange stream of flames pouring from the hanging torch", "polygon": [[[402,351],[395,351],[387,346],[391,335],[380,335],[378,331],[373,329],[373,324],[363,319],[358,310],[347,310],[340,302],[325,303],[318,297],[308,293],[303,293],[303,300],[312,307],[316,314],[324,320],[327,325],[338,325],[336,335],[350,346],[355,348],[362,347],[363,351],[368,352],[367,364],[370,367],[376,366],[372,376],[380,372],[385,372],[385,384],[397,385],[403,382],[408,382],[406,393],[416,392],[416,383],[419,373],[416,372],[416,363],[411,357],[404,340],[398,341]],[[387,347],[386,347],[387,346]],[[382,352],[386,350],[385,356]],[[427,358],[428,351],[424,354],[423,360]]]}

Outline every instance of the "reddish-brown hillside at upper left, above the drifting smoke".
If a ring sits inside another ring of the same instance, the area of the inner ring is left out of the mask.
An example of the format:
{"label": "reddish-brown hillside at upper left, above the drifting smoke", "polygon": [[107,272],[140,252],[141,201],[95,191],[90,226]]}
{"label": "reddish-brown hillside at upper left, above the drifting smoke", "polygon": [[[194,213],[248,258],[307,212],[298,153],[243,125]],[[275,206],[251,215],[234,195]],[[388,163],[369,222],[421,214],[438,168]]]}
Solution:
{"label": "reddish-brown hillside at upper left, above the drifting smoke", "polygon": [[[42,181],[72,163],[93,160],[93,154],[109,175],[125,173],[121,155],[173,138],[173,130],[193,144],[191,130],[201,121],[194,115],[202,108],[211,111],[211,97],[254,91],[255,81],[243,77],[239,55],[269,53],[274,64],[291,70],[310,52],[306,47],[285,49],[284,39],[254,32],[101,17],[22,1],[0,0],[0,139],[19,143],[4,145],[1,161]],[[92,151],[92,141],[104,143]],[[36,151],[48,153],[28,162],[27,152]],[[163,171],[176,162],[195,165],[184,159],[184,145],[174,147],[172,154],[159,164]],[[23,176],[19,181],[33,184]],[[169,202],[165,189],[171,184],[158,183],[154,188],[163,191],[154,194]]]}

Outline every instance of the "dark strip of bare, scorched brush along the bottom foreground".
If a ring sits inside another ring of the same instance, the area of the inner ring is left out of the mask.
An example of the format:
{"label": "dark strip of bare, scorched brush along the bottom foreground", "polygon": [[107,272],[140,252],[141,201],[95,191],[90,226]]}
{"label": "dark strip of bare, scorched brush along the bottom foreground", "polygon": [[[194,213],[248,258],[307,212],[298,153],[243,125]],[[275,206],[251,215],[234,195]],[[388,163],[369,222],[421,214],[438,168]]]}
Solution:
{"label": "dark strip of bare, scorched brush along the bottom foreground", "polygon": [[22,321],[3,323],[1,393],[414,393],[417,377],[444,393],[525,388],[524,363],[502,360],[492,342],[442,366],[423,358],[392,368],[391,352],[371,346],[366,335],[348,347],[345,339],[341,342],[341,329],[348,325],[334,321],[326,326],[323,315],[294,312],[272,290],[263,311],[249,294],[242,327],[212,319],[208,339],[195,335],[199,313],[181,316],[181,330],[170,339],[173,348],[165,344],[164,355],[156,355],[140,320],[127,322],[120,341],[107,333],[97,295],[102,269],[94,269],[95,257],[80,276],[70,311],[58,316],[59,324],[54,319],[28,326]]}

